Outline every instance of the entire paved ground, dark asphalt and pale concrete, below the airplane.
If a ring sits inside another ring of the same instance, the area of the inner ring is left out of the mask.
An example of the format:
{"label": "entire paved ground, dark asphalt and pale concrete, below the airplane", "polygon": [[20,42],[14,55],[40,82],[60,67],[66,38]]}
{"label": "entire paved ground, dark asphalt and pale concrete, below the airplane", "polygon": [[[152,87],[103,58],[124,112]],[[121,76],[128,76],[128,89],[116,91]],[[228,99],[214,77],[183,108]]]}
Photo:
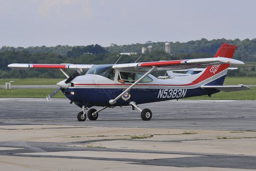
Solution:
{"label": "entire paved ground, dark asphalt and pale concrete, below the airplane", "polygon": [[0,98],[0,170],[256,169],[256,101],[140,107],[150,121],[116,107],[78,122],[66,99]]}

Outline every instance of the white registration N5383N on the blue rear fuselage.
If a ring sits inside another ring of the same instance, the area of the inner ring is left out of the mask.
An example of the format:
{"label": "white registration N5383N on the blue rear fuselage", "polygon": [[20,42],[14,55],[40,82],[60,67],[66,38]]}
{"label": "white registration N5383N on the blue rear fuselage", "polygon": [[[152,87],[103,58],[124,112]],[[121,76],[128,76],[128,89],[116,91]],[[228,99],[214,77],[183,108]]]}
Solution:
{"label": "white registration N5383N on the blue rear fuselage", "polygon": [[187,89],[160,89],[157,98],[185,97]]}

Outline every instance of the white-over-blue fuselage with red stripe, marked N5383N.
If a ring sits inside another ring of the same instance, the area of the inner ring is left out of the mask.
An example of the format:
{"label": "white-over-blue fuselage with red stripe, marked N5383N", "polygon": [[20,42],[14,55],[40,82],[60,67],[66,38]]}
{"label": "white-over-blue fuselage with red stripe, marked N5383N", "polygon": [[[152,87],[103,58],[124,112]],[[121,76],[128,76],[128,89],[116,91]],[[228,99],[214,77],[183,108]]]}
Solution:
{"label": "white-over-blue fuselage with red stripe, marked N5383N", "polygon": [[[148,75],[146,81],[140,82],[122,98],[118,99],[114,105],[110,105],[110,99],[116,98],[134,83],[134,81],[120,83],[118,81],[120,72],[122,71],[116,71],[113,80],[96,74],[78,76],[72,80],[72,86],[61,90],[68,99],[74,101],[79,107],[82,105],[86,107],[126,106],[131,101],[142,104],[218,93],[219,90],[202,89],[200,86],[211,84],[215,80],[224,80],[226,76],[226,72],[224,72],[201,82],[193,82],[202,73],[167,80]],[[140,72],[133,73],[140,74]]]}

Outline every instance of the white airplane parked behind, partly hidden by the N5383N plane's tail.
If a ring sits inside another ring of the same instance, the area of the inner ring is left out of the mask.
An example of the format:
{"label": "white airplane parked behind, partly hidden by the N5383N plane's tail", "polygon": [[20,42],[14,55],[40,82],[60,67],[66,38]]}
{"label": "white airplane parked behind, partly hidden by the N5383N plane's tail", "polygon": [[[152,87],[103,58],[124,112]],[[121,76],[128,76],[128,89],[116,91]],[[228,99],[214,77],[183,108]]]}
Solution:
{"label": "white airplane parked behind, partly hidden by the N5383N plane's tail", "polygon": [[[238,68],[228,68],[228,70],[237,70]],[[167,70],[164,76],[158,76],[157,78],[160,79],[168,79],[168,78],[176,78],[181,76],[189,76],[192,74],[198,74],[202,71],[206,70],[206,68],[190,68],[190,69],[184,69],[184,70]],[[186,74],[183,73],[177,73],[177,72],[184,72],[186,71]],[[168,76],[166,76],[166,74]]]}

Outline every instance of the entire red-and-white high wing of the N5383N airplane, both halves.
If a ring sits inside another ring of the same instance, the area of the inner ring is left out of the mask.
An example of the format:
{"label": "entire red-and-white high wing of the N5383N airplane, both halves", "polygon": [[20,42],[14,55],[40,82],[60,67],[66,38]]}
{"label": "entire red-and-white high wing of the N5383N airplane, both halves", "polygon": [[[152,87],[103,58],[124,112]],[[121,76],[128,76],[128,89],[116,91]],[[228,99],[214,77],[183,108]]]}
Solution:
{"label": "entire red-and-white high wing of the N5383N airplane, both halves", "polygon": [[[202,58],[192,60],[172,60],[172,61],[158,61],[158,62],[142,62],[142,63],[130,63],[130,64],[115,64],[113,68],[123,70],[140,70],[148,71],[153,66],[156,70],[182,70],[190,69],[202,66],[220,65],[220,64],[244,64],[239,60],[230,58]],[[87,64],[9,64],[8,67],[16,70],[28,70],[30,68],[42,68],[42,69],[64,69],[64,70],[88,70],[93,65]]]}

